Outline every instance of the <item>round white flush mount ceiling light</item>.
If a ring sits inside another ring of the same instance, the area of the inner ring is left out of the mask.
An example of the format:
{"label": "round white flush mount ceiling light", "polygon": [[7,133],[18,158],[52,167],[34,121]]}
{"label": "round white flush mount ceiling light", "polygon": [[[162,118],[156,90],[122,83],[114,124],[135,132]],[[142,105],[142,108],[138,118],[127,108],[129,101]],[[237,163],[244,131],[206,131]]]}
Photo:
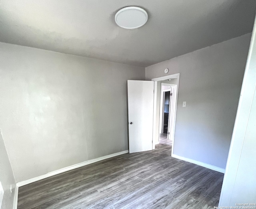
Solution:
{"label": "round white flush mount ceiling light", "polygon": [[148,21],[148,14],[140,7],[128,6],[116,12],[115,21],[121,28],[140,28]]}

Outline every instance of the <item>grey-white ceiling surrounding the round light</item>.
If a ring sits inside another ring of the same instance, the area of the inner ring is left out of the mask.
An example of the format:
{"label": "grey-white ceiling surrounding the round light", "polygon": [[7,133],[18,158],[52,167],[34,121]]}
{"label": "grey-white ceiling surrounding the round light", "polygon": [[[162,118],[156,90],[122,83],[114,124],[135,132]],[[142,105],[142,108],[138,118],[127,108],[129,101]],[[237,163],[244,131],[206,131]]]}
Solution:
{"label": "grey-white ceiling surrounding the round light", "polygon": [[[140,6],[148,22],[116,25]],[[255,0],[0,0],[0,41],[147,67],[252,32]]]}

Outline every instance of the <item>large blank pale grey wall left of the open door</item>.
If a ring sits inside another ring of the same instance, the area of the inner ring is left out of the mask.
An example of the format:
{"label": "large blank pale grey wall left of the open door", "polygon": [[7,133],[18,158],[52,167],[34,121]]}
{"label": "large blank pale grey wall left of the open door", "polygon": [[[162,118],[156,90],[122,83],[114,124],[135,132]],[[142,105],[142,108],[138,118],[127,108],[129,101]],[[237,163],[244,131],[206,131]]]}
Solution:
{"label": "large blank pale grey wall left of the open door", "polygon": [[145,68],[0,43],[0,128],[17,182],[128,150]]}

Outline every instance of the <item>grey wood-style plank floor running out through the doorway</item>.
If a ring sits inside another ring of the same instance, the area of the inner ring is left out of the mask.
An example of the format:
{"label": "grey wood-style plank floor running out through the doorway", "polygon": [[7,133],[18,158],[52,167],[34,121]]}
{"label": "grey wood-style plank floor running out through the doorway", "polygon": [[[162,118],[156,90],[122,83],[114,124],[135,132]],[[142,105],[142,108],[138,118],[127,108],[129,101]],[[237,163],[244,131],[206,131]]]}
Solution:
{"label": "grey wood-style plank floor running out through the doorway", "polygon": [[[164,143],[164,144],[161,144]],[[18,209],[212,209],[223,175],[156,149],[123,154],[19,188]]]}

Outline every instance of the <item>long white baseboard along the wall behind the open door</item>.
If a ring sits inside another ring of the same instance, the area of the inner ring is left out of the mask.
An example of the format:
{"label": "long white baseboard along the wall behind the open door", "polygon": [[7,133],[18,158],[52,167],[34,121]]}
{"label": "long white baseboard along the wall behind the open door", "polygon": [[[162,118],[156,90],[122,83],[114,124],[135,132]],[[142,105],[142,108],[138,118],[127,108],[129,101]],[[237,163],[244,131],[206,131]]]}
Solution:
{"label": "long white baseboard along the wall behind the open door", "polygon": [[21,186],[24,186],[26,184],[29,184],[29,183],[32,183],[32,182],[35,182],[35,181],[39,181],[41,179],[45,179],[47,177],[50,177],[50,176],[53,176],[53,175],[56,175],[56,174],[61,174],[63,172],[70,171],[70,170],[73,170],[75,168],[80,168],[82,166],[86,166],[88,164],[92,164],[92,163],[95,163],[95,162],[98,162],[98,161],[101,161],[101,160],[105,160],[105,159],[108,159],[108,158],[112,158],[112,157],[115,157],[115,156],[118,156],[118,155],[126,154],[128,152],[129,152],[129,150],[125,150],[125,151],[122,151],[122,152],[117,152],[117,153],[114,153],[114,154],[106,155],[106,156],[103,156],[103,157],[100,157],[100,158],[87,160],[85,162],[78,163],[78,164],[75,164],[73,166],[68,166],[66,168],[62,168],[62,169],[50,172],[48,174],[40,175],[38,177],[34,177],[32,179],[28,179],[28,180],[25,180],[25,181],[20,181],[20,182],[16,183],[16,187],[21,187]]}

